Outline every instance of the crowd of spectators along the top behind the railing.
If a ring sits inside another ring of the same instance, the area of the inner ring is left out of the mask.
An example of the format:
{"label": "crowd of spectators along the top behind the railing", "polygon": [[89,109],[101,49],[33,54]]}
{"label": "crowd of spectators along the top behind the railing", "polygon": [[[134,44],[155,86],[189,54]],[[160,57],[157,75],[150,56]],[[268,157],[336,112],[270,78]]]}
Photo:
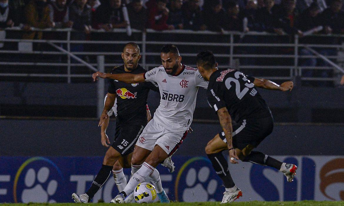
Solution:
{"label": "crowd of spectators along the top behind the railing", "polygon": [[[280,2],[279,2],[280,1]],[[326,6],[328,5],[328,6]],[[123,9],[126,7],[127,9]],[[129,22],[125,20],[129,17]],[[341,0],[0,0],[0,28],[266,31],[344,33]],[[25,39],[40,39],[27,32]]]}

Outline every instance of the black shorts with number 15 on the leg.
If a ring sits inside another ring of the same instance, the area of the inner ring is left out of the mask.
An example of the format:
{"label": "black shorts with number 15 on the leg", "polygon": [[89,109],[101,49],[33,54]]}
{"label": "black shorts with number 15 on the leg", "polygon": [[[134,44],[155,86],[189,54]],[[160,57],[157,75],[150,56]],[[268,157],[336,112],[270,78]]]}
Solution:
{"label": "black shorts with number 15 on the leg", "polygon": [[116,124],[115,141],[111,146],[122,156],[132,153],[143,128],[143,125]]}

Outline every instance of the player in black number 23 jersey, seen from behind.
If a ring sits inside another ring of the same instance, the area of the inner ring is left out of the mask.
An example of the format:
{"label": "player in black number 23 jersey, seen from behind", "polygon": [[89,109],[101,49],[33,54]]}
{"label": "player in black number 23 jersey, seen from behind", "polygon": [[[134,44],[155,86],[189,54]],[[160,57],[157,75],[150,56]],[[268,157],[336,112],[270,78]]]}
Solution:
{"label": "player in black number 23 jersey, seen from behind", "polygon": [[[235,69],[218,70],[215,56],[210,51],[197,55],[197,68],[209,81],[207,100],[217,112],[223,132],[217,134],[206,146],[206,153],[216,173],[226,187],[222,203],[230,203],[242,196],[241,190],[230,176],[222,151],[228,150],[230,162],[251,162],[278,169],[293,181],[297,166],[282,163],[268,155],[253,151],[272,132],[273,119],[269,107],[255,87],[268,90],[290,91],[293,83],[281,85],[258,79]],[[236,124],[232,125],[232,120]]]}

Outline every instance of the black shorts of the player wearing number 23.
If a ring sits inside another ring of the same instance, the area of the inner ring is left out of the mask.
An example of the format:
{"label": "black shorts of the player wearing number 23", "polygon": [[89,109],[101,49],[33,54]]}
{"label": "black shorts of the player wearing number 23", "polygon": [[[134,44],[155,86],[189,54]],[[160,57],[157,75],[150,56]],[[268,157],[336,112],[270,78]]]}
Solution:
{"label": "black shorts of the player wearing number 23", "polygon": [[[247,145],[257,147],[273,129],[272,116],[254,120],[242,120],[233,125],[233,147],[243,150]],[[225,133],[219,133],[220,138],[227,142]]]}

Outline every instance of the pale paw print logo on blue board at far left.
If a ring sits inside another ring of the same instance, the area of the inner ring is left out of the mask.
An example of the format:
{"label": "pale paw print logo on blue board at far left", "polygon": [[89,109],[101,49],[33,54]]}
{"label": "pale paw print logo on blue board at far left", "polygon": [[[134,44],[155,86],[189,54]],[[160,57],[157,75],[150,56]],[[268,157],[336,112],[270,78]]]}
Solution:
{"label": "pale paw print logo on blue board at far left", "polygon": [[24,178],[24,186],[21,199],[23,203],[55,203],[52,196],[57,190],[57,181],[48,181],[50,170],[48,167],[41,167],[38,172],[33,168],[28,169]]}

